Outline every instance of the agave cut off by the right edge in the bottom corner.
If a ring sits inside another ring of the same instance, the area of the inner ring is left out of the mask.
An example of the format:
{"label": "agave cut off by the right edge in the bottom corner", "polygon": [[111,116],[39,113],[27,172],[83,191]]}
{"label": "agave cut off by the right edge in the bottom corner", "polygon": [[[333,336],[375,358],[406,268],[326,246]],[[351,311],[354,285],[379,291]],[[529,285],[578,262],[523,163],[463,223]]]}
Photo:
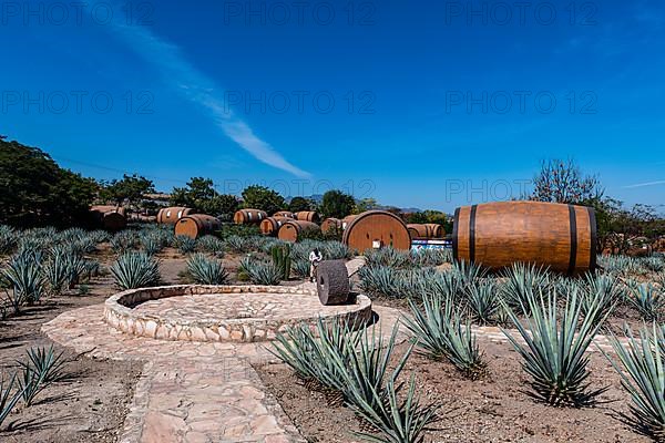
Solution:
{"label": "agave cut off by the right edge in the bottom corner", "polygon": [[[653,324],[640,331],[635,338],[626,327],[627,343],[615,336],[611,342],[621,367],[605,353],[621,375],[621,383],[631,395],[631,415],[622,414],[623,421],[641,434],[656,442],[665,441],[665,327]],[[656,346],[655,343],[658,343]]]}

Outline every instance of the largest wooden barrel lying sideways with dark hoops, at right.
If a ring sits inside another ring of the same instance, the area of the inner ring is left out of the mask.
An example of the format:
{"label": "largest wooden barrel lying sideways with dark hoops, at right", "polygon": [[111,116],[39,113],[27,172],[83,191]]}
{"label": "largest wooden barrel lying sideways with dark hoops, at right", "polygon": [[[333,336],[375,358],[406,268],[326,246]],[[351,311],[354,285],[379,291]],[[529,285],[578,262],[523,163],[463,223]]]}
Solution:
{"label": "largest wooden barrel lying sideways with dark hoops, at right", "polygon": [[579,275],[596,268],[596,220],[592,208],[541,202],[464,206],[454,213],[456,260],[502,269],[535,264]]}

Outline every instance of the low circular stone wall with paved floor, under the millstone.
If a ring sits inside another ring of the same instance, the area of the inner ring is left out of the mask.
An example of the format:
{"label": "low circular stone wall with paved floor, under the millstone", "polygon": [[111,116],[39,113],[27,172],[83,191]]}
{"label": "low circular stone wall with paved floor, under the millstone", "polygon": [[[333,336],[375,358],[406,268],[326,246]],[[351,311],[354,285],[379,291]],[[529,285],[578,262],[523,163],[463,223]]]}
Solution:
{"label": "low circular stone wall with paved floor, under the millstone", "polygon": [[283,286],[178,285],[126,290],[109,298],[104,320],[140,337],[184,341],[265,341],[318,318],[362,324],[371,301],[323,306],[316,290]]}

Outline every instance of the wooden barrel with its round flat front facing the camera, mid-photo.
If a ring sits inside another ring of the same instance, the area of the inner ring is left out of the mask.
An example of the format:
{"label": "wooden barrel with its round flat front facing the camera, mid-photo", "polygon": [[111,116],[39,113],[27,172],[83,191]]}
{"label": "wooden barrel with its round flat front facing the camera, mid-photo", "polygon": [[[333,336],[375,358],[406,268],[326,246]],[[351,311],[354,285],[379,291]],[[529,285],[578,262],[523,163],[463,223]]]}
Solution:
{"label": "wooden barrel with its round flat front facing the camera, mid-photo", "polygon": [[401,250],[411,248],[407,225],[387,210],[368,210],[356,216],[344,230],[341,241],[360,253],[387,246]]}

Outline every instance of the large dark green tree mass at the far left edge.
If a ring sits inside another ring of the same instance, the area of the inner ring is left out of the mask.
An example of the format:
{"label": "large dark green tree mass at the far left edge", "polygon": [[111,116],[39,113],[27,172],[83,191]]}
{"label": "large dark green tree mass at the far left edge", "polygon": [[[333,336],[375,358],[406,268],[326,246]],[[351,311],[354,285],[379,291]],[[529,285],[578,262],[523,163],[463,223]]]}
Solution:
{"label": "large dark green tree mass at the far left edge", "polygon": [[98,185],[38,147],[0,140],[0,223],[71,226],[88,220]]}

